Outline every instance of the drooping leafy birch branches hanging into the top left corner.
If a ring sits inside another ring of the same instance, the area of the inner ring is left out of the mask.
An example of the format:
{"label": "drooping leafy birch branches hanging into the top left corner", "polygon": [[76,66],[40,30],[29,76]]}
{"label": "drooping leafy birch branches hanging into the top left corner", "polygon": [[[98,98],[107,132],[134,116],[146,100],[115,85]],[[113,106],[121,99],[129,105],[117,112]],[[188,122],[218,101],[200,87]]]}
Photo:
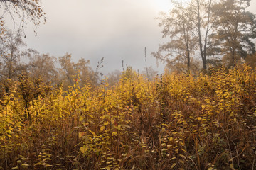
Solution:
{"label": "drooping leafy birch branches hanging into the top left corner", "polygon": [[[1,18],[0,22],[4,23],[4,16],[10,16],[16,24],[15,17],[21,18],[20,26],[24,28],[24,24],[29,21],[33,25],[38,26],[43,19],[43,23],[46,23],[46,17],[41,8],[39,0],[0,0]],[[1,25],[1,28],[4,25]]]}

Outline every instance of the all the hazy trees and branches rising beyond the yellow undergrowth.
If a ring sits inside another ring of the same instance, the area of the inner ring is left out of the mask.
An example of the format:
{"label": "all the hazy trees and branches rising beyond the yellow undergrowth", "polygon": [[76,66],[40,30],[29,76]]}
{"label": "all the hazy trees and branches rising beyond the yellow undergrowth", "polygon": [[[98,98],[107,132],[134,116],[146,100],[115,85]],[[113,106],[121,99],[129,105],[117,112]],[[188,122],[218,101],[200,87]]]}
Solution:
{"label": "all the hazy trees and branches rising beyond the yellow undergrowth", "polygon": [[[33,2],[35,4],[28,1],[20,3],[24,8],[34,6],[39,15],[38,18],[33,18],[36,14],[30,16],[29,13],[23,13],[23,17],[31,17],[32,21],[44,18],[43,21],[46,21],[38,1]],[[159,17],[163,37],[170,41],[160,45],[158,51],[152,52],[154,57],[166,63],[166,72],[188,74],[191,71],[196,74],[198,71],[207,72],[210,67],[231,68],[244,62],[252,68],[256,66],[256,18],[255,14],[246,11],[250,0],[192,0],[171,3],[171,11],[162,13]],[[1,4],[11,5],[14,2],[6,1]],[[19,8],[16,10],[18,12]],[[23,21],[21,23],[24,24]],[[92,68],[90,60],[81,58],[78,62],[73,62],[71,54],[53,57],[32,49],[24,50],[26,44],[22,37],[21,31],[12,33],[7,30],[1,18],[1,94],[9,91],[11,81],[18,80],[21,75],[40,79],[46,84],[63,86],[63,89],[75,84],[76,79],[81,84],[100,84],[103,79],[100,74],[103,60],[99,61],[97,68]],[[156,75],[152,68],[146,68],[143,72],[149,79]],[[109,83],[115,84],[120,75],[118,70],[108,74]]]}

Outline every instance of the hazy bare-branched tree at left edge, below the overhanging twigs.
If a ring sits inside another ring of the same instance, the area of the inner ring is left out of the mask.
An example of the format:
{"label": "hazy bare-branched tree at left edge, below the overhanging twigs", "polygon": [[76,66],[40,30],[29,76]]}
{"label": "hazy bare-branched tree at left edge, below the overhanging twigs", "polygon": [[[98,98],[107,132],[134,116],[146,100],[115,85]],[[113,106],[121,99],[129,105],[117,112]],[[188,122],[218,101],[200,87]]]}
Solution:
{"label": "hazy bare-branched tree at left edge, below the overhanging twigs", "polygon": [[0,79],[14,79],[26,70],[21,57],[29,57],[33,50],[21,50],[26,43],[21,38],[21,30],[16,33],[7,30],[4,38],[0,38]]}

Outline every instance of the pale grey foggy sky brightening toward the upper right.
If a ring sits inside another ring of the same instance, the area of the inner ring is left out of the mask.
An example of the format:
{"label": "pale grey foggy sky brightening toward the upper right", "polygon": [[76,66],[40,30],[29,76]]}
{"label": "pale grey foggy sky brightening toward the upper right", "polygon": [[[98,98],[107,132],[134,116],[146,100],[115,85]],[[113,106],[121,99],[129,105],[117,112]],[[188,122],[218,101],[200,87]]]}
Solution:
{"label": "pale grey foggy sky brightening toward the upper right", "polygon": [[[122,69],[124,64],[142,71],[145,67],[144,47],[148,66],[156,67],[151,52],[158,50],[161,38],[160,11],[171,9],[170,0],[41,0],[47,23],[36,29],[27,26],[28,47],[55,57],[71,53],[77,62],[90,60],[93,69],[105,57],[102,72]],[[250,11],[256,13],[256,0]]]}

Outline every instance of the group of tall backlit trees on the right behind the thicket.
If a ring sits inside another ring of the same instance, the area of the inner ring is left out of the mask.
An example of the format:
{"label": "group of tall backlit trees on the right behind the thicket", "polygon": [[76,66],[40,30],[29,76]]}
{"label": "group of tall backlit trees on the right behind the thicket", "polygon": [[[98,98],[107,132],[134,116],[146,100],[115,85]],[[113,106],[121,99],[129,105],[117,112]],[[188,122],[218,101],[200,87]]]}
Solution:
{"label": "group of tall backlit trees on the right behind the thicket", "polygon": [[171,1],[173,8],[162,13],[159,26],[163,38],[152,55],[178,72],[196,72],[247,62],[255,67],[255,14],[247,11],[250,0]]}

